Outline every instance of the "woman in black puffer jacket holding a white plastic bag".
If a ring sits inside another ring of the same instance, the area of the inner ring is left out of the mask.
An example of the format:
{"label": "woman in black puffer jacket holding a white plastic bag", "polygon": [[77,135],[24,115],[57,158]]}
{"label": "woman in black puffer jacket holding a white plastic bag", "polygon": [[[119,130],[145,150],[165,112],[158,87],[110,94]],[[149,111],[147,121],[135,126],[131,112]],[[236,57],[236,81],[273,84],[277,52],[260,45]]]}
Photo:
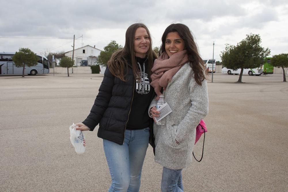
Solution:
{"label": "woman in black puffer jacket holding a white plastic bag", "polygon": [[93,131],[99,124],[97,135],[103,138],[112,178],[109,191],[139,191],[153,127],[147,111],[155,94],[150,75],[156,58],[147,27],[129,26],[124,48],[108,62],[90,114],[76,124],[82,131]]}

